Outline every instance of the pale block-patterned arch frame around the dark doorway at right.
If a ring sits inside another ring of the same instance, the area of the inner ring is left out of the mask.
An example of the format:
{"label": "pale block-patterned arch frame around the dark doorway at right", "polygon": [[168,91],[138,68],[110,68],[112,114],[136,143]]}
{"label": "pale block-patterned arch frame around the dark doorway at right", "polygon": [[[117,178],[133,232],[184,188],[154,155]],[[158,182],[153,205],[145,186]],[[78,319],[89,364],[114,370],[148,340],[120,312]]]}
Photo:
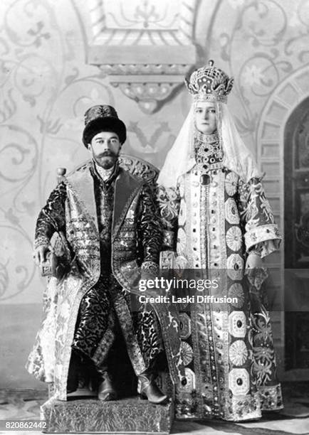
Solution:
{"label": "pale block-patterned arch frame around the dark doorway at right", "polygon": [[[258,144],[258,162],[261,170],[266,173],[264,178],[264,186],[266,195],[268,196],[272,208],[275,213],[276,221],[279,222],[281,231],[284,232],[286,214],[285,211],[290,209],[288,197],[285,196],[285,139],[287,131],[294,118],[294,112],[299,114],[305,101],[309,97],[309,66],[299,68],[293,74],[283,80],[273,91],[261,115],[261,121],[258,127],[257,144]],[[300,107],[300,109],[298,109]],[[290,120],[290,121],[289,121]],[[288,141],[290,136],[288,136]],[[288,155],[286,156],[288,161]],[[289,171],[287,169],[287,171]],[[286,182],[288,183],[288,181]],[[278,254],[272,255],[268,259],[268,267],[273,270],[278,270],[278,273],[273,274],[273,287],[277,294],[276,304],[273,307],[273,324],[274,324],[274,342],[279,353],[279,364],[281,371],[295,367],[286,367],[285,359],[285,341],[286,341],[286,313],[284,312],[284,289],[285,283],[285,267],[291,267],[290,262],[286,264],[284,247],[290,248],[290,240],[286,239],[283,234],[283,244]],[[287,237],[288,234],[287,234]],[[287,249],[288,251],[288,249]],[[292,370],[293,371],[293,370]],[[285,374],[287,377],[288,372]],[[308,371],[303,372],[303,376],[308,375]],[[294,374],[291,373],[291,377]],[[300,374],[300,377],[302,374]]]}

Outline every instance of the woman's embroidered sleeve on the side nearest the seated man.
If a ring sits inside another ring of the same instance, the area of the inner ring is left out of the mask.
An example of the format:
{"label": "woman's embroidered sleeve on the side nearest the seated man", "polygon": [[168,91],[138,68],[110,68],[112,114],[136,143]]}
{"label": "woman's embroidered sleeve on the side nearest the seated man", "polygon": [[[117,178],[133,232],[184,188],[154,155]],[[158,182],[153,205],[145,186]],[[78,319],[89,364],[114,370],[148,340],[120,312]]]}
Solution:
{"label": "woman's embroidered sleeve on the side nearest the seated man", "polygon": [[157,186],[159,214],[163,225],[163,249],[176,250],[176,234],[180,206],[179,188]]}

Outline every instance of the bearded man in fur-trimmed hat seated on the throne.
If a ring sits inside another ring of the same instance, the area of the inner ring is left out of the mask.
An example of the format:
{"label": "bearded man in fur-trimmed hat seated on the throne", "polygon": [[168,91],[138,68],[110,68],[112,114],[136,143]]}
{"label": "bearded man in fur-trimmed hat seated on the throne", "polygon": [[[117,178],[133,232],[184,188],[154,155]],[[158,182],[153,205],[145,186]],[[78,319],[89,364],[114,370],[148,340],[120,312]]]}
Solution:
{"label": "bearded man in fur-trimmed hat seated on the throne", "polygon": [[58,184],[38,216],[36,264],[46,261],[55,232],[70,256],[65,276],[49,281],[27,364],[39,380],[53,382],[58,399],[77,389],[82,363],[98,375],[98,399],[115,399],[109,356],[122,335],[138,392],[155,404],[167,400],[154,381],[163,352],[154,311],[141,308],[136,324],[127,294],[139,267],[145,276],[157,271],[161,230],[150,186],[118,164],[125,139],[113,107],[88,109],[83,144],[92,159]]}

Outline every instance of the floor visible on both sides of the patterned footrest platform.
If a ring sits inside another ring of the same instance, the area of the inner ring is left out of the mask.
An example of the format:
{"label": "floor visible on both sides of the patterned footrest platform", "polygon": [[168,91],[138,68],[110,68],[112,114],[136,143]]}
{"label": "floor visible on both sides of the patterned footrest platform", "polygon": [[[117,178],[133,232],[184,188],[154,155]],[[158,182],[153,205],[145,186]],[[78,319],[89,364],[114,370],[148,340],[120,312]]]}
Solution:
{"label": "floor visible on both sides of the patterned footrest platform", "polygon": [[[194,435],[286,435],[309,434],[309,382],[283,385],[285,409],[266,414],[260,421],[175,421],[172,434]],[[45,391],[0,390],[0,424],[8,419],[38,419],[39,407],[46,400]],[[4,433],[1,431],[0,434]],[[9,433],[9,432],[8,432]],[[14,434],[14,431],[10,431]],[[39,431],[16,431],[16,434],[40,434]]]}

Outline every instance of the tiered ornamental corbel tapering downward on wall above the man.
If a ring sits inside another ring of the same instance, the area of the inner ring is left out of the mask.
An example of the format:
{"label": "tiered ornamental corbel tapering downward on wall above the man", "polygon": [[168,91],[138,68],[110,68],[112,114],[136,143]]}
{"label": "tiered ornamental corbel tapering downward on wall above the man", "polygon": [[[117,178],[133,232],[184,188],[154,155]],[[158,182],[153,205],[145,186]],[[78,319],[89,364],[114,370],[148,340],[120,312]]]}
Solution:
{"label": "tiered ornamental corbel tapering downward on wall above the man", "polygon": [[157,112],[196,62],[196,6],[197,0],[91,0],[88,63],[142,112]]}

